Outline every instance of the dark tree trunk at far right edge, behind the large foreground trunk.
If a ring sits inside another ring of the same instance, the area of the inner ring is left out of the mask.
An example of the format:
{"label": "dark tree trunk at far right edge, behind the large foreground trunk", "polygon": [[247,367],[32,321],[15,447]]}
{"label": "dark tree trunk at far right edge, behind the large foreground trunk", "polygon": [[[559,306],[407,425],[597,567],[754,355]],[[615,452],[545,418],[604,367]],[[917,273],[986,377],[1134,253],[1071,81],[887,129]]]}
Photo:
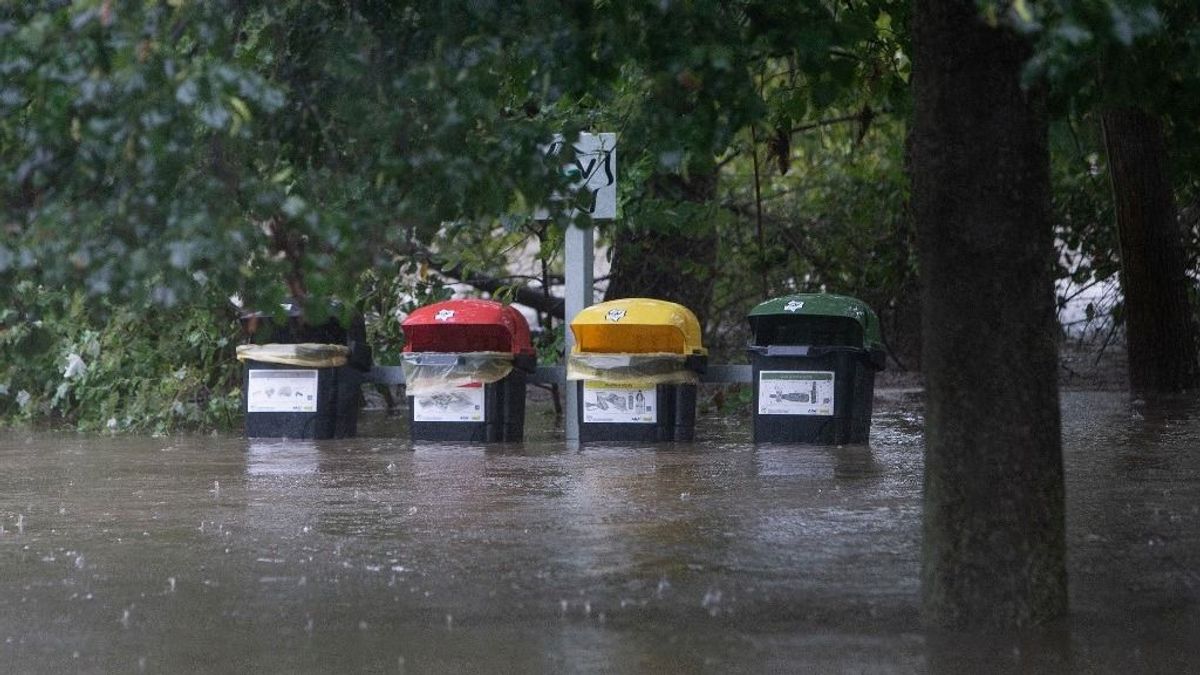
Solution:
{"label": "dark tree trunk at far right edge, behind the large foreground trunk", "polygon": [[1129,384],[1135,392],[1196,386],[1196,345],[1183,239],[1159,120],[1134,108],[1102,115],[1124,293]]}

